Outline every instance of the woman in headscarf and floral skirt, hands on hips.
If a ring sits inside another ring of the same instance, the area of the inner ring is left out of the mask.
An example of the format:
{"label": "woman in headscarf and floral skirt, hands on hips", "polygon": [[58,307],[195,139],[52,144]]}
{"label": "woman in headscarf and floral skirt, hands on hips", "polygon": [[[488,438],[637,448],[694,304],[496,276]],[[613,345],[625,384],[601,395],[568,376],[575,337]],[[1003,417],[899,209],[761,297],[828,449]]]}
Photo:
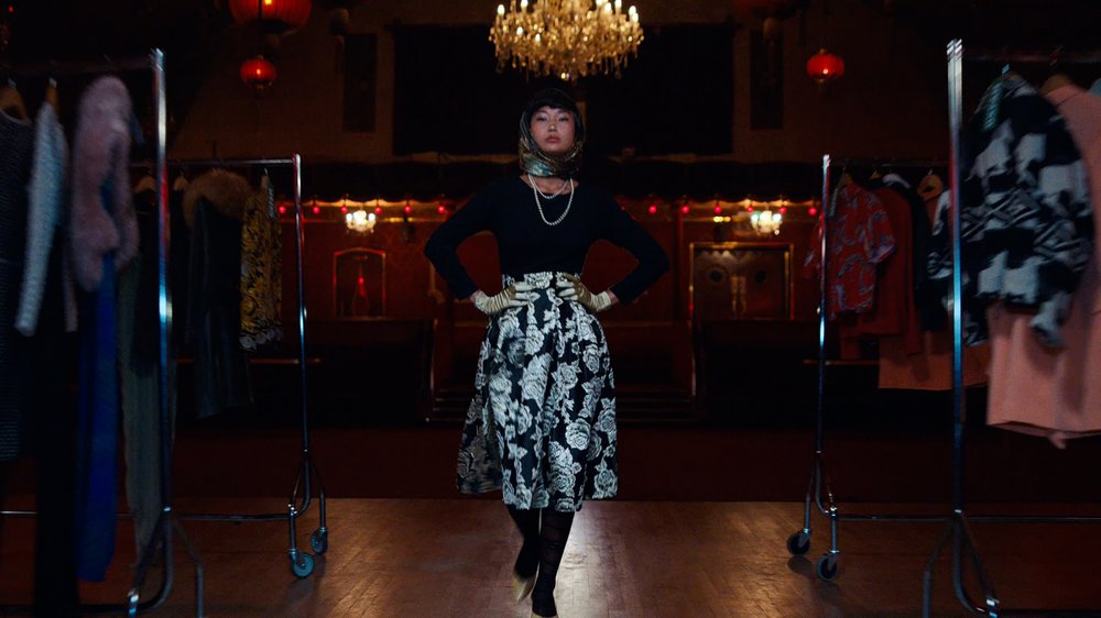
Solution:
{"label": "woman in headscarf and floral skirt, hands on hips", "polygon": [[[662,249],[610,196],[574,177],[584,143],[574,100],[538,92],[520,119],[523,174],[477,195],[425,246],[456,298],[490,318],[458,487],[502,490],[524,537],[513,588],[517,602],[532,594],[534,616],[557,614],[555,576],[581,500],[617,490],[614,383],[596,313],[631,302],[668,269]],[[477,288],[456,253],[483,230],[497,238],[505,286],[493,296]],[[639,265],[593,294],[579,275],[599,239]]]}

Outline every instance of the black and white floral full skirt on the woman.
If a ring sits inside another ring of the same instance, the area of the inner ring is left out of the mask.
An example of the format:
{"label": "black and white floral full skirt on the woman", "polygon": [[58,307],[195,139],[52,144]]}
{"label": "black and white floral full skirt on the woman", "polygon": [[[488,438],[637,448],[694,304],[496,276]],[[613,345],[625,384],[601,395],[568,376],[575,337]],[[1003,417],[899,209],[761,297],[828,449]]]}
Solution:
{"label": "black and white floral full skirt on the woman", "polygon": [[[555,294],[556,273],[523,280],[537,297],[490,318],[459,448],[458,487],[501,489],[521,509],[577,511],[611,498],[615,385],[596,316]],[[505,276],[504,284],[515,283]]]}

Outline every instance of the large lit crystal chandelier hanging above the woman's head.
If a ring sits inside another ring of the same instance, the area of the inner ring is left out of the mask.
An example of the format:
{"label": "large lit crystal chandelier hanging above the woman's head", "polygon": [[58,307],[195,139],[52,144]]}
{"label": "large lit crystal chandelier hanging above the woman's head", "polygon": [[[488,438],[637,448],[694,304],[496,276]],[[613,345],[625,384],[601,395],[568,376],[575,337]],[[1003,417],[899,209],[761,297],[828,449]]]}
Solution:
{"label": "large lit crystal chandelier hanging above the woman's head", "polygon": [[634,7],[623,12],[623,0],[512,0],[497,7],[489,40],[497,48],[498,69],[513,68],[564,81],[613,74],[642,43]]}

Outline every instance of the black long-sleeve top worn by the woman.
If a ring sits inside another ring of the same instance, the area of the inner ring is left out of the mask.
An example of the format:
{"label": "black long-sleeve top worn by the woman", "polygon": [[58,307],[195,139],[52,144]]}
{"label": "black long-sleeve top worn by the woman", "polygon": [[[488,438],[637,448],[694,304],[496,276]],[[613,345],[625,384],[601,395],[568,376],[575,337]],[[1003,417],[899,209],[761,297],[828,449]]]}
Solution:
{"label": "black long-sleeve top worn by the woman", "polygon": [[[539,218],[532,188],[519,176],[502,178],[475,196],[444,222],[424,247],[425,255],[457,298],[467,298],[478,286],[456,252],[467,238],[490,231],[497,238],[501,272],[513,277],[527,273],[580,273],[585,257],[598,240],[629,251],[639,265],[611,287],[623,305],[669,269],[662,247],[623,211],[611,196],[588,184],[575,187],[569,213],[557,225]],[[557,220],[569,195],[541,199],[547,221]]]}

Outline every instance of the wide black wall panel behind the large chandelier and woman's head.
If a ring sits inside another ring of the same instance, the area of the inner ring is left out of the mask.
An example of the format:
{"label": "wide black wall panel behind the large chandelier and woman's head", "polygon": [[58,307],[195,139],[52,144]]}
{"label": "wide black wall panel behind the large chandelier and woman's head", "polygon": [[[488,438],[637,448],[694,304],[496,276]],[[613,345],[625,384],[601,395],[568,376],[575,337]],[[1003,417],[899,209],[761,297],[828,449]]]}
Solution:
{"label": "wide black wall panel behind the large chandelier and woman's head", "polygon": [[483,26],[399,27],[394,154],[515,152],[524,102],[552,85],[584,101],[587,153],[730,152],[733,32],[729,25],[652,29],[620,79],[586,78],[571,86],[525,79],[512,68],[497,73]]}

